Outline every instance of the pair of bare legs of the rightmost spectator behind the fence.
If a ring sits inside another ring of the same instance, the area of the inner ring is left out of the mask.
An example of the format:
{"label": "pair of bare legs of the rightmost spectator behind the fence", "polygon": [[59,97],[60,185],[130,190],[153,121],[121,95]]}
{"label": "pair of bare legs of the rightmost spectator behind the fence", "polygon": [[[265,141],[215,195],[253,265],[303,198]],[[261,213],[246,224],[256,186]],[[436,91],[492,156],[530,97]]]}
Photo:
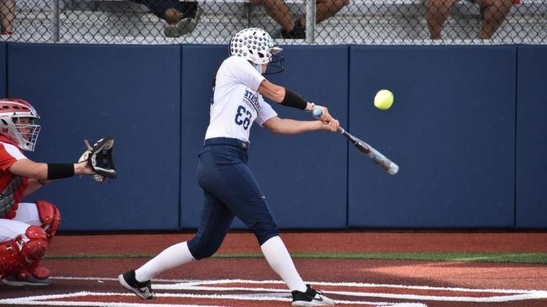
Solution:
{"label": "pair of bare legs of the rightmost spectator behind the fence", "polygon": [[[519,0],[469,0],[480,6],[482,15],[482,29],[480,39],[490,39],[499,26],[504,22],[505,17],[511,10],[513,3]],[[450,8],[456,0],[426,0],[426,20],[431,39],[440,39],[440,32],[447,20]]]}

